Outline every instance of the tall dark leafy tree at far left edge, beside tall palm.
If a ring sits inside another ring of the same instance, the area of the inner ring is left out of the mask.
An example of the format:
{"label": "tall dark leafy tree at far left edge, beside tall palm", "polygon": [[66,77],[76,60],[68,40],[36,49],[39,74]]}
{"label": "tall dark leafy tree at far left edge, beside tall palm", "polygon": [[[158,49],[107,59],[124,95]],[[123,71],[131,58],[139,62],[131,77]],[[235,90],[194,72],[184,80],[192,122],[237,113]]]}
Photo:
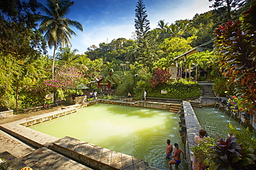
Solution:
{"label": "tall dark leafy tree at far left edge, beside tall palm", "polygon": [[35,1],[0,1],[0,4],[1,64],[3,73],[8,73],[8,76],[1,76],[8,83],[0,85],[1,94],[6,97],[0,101],[0,106],[12,106],[10,96],[15,94],[18,111],[20,87],[35,80],[37,68],[33,62],[45,52],[46,44],[36,29]]}

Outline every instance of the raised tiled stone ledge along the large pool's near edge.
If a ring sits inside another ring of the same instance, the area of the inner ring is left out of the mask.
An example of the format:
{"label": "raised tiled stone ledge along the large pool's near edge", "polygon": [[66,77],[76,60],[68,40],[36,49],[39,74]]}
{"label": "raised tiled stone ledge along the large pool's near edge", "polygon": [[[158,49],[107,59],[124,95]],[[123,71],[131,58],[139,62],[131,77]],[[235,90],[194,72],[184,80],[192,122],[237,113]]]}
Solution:
{"label": "raised tiled stone ledge along the large pool's near edge", "polygon": [[82,162],[93,169],[157,169],[147,167],[144,160],[112,151],[71,137],[64,137],[49,145],[50,149]]}

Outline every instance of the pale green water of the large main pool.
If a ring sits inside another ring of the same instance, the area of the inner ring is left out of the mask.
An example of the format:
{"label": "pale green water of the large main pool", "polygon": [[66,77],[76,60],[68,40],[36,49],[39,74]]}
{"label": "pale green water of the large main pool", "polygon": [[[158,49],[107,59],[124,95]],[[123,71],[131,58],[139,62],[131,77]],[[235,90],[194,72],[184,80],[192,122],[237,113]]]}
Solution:
{"label": "pale green water of the large main pool", "polygon": [[[71,136],[143,159],[149,166],[168,169],[164,159],[166,140],[184,150],[178,122],[179,115],[167,110],[100,103],[30,128],[57,138]],[[184,160],[179,168],[185,169]]]}

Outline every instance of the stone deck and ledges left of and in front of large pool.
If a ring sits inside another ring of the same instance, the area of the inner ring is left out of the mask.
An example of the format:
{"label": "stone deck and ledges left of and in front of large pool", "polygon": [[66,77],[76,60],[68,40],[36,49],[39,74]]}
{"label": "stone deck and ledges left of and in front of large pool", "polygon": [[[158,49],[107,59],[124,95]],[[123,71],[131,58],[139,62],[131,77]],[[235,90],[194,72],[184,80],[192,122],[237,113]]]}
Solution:
{"label": "stone deck and ledges left of and in front of large pool", "polygon": [[55,138],[26,127],[74,113],[79,107],[82,106],[59,107],[49,113],[4,122],[0,125],[0,158],[12,157],[12,169],[157,169],[124,153],[68,136]]}

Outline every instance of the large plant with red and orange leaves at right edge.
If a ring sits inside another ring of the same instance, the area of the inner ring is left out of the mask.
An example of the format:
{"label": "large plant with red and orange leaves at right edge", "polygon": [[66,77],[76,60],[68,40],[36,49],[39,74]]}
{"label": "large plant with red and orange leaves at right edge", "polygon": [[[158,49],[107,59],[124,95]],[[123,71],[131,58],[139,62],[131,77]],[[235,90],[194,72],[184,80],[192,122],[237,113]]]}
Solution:
{"label": "large plant with red and orange leaves at right edge", "polygon": [[256,6],[244,12],[241,21],[229,21],[215,31],[215,50],[219,52],[221,72],[235,85],[239,109],[256,110]]}

